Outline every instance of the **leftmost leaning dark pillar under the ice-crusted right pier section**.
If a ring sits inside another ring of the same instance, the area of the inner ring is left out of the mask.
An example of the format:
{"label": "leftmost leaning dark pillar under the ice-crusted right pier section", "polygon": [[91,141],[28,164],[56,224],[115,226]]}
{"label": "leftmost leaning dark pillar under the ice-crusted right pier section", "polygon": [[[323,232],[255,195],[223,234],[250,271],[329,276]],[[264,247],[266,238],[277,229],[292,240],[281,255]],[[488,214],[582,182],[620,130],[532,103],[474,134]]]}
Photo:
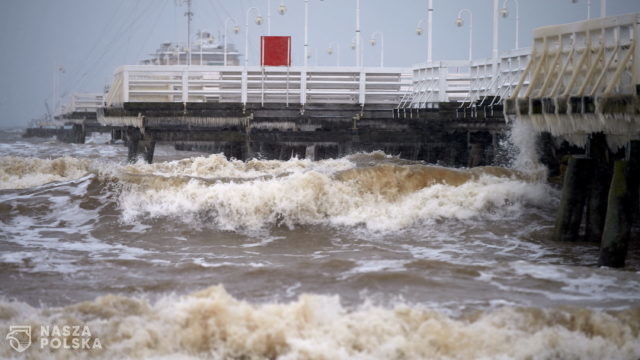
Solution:
{"label": "leftmost leaning dark pillar under the ice-crusted right pier section", "polygon": [[574,156],[569,159],[553,234],[555,241],[578,241],[579,239],[591,168],[592,161],[585,156]]}

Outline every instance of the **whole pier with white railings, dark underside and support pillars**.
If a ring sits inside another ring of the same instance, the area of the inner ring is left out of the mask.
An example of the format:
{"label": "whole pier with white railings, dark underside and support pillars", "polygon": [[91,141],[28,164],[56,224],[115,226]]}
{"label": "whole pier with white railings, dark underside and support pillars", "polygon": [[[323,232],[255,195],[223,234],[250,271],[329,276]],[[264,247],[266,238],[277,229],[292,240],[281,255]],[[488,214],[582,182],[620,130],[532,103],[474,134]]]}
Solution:
{"label": "whole pier with white railings, dark underside and support pillars", "polygon": [[[528,122],[564,176],[554,239],[600,242],[600,265],[620,267],[638,209],[639,34],[640,14],[625,14],[538,28],[531,48],[489,59],[407,68],[126,65],[103,98],[58,120],[72,142],[111,131],[129,161],[152,162],[163,142],[242,160],[382,150],[469,167],[495,163],[508,124]],[[564,173],[561,146],[573,149]]]}

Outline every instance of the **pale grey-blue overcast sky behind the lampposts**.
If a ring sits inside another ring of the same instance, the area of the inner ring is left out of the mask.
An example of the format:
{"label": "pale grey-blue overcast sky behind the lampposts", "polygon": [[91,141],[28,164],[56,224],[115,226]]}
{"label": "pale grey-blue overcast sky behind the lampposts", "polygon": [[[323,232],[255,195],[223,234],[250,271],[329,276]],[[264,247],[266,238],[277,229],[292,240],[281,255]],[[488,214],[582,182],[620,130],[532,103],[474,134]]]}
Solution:
{"label": "pale grey-blue overcast sky behind the lampposts", "polygon": [[[501,0],[501,6],[502,6]],[[349,44],[355,30],[356,0],[310,0],[310,64],[333,66],[336,53],[327,54],[331,42],[339,44],[342,65],[354,65]],[[24,126],[52,103],[53,74],[58,65],[64,94],[102,92],[113,71],[123,64],[137,64],[162,42],[186,42],[186,7],[180,0],[0,0],[0,127]],[[272,35],[293,37],[293,63],[302,64],[304,1],[284,0],[287,13],[277,13],[280,0],[271,0]],[[520,0],[520,47],[531,44],[539,26],[586,18],[587,1]],[[600,2],[593,0],[592,17],[599,16]],[[515,39],[515,5],[500,19],[500,51],[512,49]],[[251,22],[250,56],[255,63],[258,37],[266,34],[267,0],[193,0],[193,31],[218,35],[227,17],[242,27],[229,41],[244,51],[246,10],[255,6],[265,19]],[[433,59],[466,59],[468,18],[456,27],[457,12],[473,13],[474,58],[491,55],[491,0],[434,0]],[[410,67],[426,60],[426,34],[415,28],[426,17],[427,0],[361,0],[361,28],[365,65],[380,62],[379,43],[369,45],[374,31],[384,34],[385,66]],[[608,0],[607,14],[640,12],[639,0]],[[253,20],[252,16],[252,20]],[[423,25],[426,31],[426,23]],[[231,31],[230,31],[231,33]]]}

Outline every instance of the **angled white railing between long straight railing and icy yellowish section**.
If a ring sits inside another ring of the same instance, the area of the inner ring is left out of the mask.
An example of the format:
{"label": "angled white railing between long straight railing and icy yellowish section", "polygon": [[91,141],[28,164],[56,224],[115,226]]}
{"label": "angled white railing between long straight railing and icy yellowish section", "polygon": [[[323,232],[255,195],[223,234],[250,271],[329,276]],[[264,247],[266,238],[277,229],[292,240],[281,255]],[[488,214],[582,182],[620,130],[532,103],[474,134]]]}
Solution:
{"label": "angled white railing between long straight railing and icy yellowish section", "polygon": [[398,109],[427,108],[438,102],[459,102],[461,107],[500,104],[518,84],[530,51],[523,48],[503,53],[497,64],[485,59],[418,65],[413,69],[412,91],[405,94]]}

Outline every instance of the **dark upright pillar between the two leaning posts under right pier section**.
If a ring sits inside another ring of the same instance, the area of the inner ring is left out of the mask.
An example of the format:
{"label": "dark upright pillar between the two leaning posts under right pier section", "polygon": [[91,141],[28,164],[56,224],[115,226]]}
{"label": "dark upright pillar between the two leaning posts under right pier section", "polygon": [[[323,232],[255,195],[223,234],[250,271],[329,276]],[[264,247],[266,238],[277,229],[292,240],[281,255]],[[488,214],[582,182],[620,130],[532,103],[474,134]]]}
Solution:
{"label": "dark upright pillar between the two leaning posts under right pier section", "polygon": [[593,162],[593,171],[590,176],[587,198],[585,241],[599,243],[602,240],[602,230],[607,215],[607,198],[612,175],[606,135],[603,133],[591,134],[587,149],[589,158]]}

